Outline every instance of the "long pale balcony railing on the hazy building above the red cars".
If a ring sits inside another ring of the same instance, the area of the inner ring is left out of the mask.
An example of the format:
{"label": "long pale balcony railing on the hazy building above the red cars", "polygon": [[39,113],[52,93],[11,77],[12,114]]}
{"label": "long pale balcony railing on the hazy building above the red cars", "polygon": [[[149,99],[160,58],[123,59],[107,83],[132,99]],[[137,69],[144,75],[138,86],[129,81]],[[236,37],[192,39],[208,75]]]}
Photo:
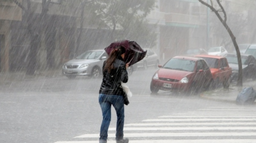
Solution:
{"label": "long pale balcony railing on the hazy building above the red cars", "polygon": [[165,23],[182,23],[182,24],[199,24],[199,16],[179,14],[179,13],[166,13]]}

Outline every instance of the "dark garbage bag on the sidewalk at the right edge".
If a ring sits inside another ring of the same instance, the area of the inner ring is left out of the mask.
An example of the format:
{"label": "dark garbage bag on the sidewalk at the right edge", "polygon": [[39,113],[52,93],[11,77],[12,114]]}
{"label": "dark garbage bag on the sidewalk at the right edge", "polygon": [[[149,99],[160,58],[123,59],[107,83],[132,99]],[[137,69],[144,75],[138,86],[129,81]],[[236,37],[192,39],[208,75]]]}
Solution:
{"label": "dark garbage bag on the sidewalk at the right edge", "polygon": [[256,91],[252,87],[244,88],[236,97],[236,104],[253,104],[256,99]]}

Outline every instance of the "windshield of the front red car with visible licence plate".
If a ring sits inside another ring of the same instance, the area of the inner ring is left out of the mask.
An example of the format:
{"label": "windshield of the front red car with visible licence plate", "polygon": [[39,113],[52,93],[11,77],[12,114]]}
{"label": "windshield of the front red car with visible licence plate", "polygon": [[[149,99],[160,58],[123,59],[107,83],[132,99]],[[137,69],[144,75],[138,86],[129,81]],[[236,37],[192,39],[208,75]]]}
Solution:
{"label": "windshield of the front red car with visible licence plate", "polygon": [[193,72],[195,68],[195,61],[171,59],[164,64],[163,68]]}

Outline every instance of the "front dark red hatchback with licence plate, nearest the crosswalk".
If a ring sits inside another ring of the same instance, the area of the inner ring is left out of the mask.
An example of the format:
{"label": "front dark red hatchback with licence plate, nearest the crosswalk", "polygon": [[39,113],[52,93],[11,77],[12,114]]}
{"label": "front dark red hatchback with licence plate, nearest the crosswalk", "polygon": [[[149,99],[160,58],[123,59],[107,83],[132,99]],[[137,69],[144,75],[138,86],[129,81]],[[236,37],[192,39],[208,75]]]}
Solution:
{"label": "front dark red hatchback with licence plate, nearest the crosswalk", "polygon": [[196,57],[176,56],[160,66],[153,75],[150,90],[194,92],[208,89],[212,74],[207,63]]}

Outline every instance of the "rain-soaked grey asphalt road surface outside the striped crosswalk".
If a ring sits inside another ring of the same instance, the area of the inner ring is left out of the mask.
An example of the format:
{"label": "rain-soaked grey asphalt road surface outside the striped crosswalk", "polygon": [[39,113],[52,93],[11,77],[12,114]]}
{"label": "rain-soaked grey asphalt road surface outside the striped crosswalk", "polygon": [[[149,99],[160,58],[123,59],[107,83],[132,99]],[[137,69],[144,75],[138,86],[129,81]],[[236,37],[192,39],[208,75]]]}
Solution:
{"label": "rain-soaked grey asphalt road surface outside the striped crosswalk", "polygon": [[[173,95],[164,91],[150,95],[149,85],[155,71],[155,68],[137,70],[129,76],[127,85],[133,97],[125,106],[125,124],[227,105],[200,99],[196,95]],[[102,116],[98,91],[101,80],[57,76],[1,85],[0,142],[53,143],[72,140],[85,133],[99,133]],[[116,115],[112,110],[110,127],[115,127],[115,124]]]}

